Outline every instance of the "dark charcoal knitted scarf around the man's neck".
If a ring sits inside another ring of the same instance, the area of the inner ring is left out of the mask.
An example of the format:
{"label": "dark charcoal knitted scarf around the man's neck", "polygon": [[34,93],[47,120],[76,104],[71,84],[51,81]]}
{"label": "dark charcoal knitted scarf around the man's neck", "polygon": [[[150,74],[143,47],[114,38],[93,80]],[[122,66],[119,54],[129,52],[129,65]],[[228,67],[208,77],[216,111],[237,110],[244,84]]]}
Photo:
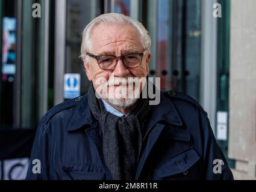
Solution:
{"label": "dark charcoal knitted scarf around the man's neck", "polygon": [[95,96],[91,83],[88,101],[93,116],[102,128],[102,148],[105,163],[113,179],[135,179],[137,159],[142,147],[142,129],[150,106],[148,98],[136,101],[136,107],[128,116],[116,116],[107,112]]}

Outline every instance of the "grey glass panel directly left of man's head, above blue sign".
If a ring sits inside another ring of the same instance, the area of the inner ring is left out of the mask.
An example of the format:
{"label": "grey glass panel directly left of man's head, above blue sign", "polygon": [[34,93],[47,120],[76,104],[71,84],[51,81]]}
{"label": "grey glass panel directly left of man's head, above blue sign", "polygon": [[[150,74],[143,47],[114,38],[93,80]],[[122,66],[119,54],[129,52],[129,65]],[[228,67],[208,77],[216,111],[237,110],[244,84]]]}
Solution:
{"label": "grey glass panel directly left of man's head, above blue sign", "polygon": [[67,0],[66,73],[81,74],[81,95],[87,92],[89,80],[80,56],[81,32],[102,12],[102,1]]}

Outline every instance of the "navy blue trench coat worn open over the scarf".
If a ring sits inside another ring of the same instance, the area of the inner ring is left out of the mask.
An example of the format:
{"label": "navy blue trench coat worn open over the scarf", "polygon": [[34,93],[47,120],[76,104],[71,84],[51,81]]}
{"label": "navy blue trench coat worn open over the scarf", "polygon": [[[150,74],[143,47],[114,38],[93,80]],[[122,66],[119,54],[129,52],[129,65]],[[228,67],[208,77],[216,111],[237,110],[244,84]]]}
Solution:
{"label": "navy blue trench coat worn open over the scarf", "polygon": [[[174,91],[160,95],[145,119],[135,179],[233,179],[198,102]],[[101,139],[87,94],[58,104],[39,123],[26,179],[113,179]]]}

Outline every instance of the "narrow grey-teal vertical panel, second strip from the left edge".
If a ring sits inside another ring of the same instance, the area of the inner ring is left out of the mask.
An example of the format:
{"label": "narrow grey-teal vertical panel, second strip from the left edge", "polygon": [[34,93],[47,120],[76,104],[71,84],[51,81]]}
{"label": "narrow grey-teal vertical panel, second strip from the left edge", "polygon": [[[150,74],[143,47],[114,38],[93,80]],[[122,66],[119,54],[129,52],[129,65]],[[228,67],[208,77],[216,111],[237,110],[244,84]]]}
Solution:
{"label": "narrow grey-teal vertical panel, second strip from the left edge", "polygon": [[[21,61],[20,61],[20,126],[22,128],[32,127],[34,117],[37,116],[37,110],[34,110],[34,99],[36,86],[36,69],[38,62],[34,61],[33,54],[36,55],[37,47],[33,47],[33,17],[32,0],[22,1],[22,29],[20,41],[21,45]],[[34,80],[33,80],[34,79]]]}

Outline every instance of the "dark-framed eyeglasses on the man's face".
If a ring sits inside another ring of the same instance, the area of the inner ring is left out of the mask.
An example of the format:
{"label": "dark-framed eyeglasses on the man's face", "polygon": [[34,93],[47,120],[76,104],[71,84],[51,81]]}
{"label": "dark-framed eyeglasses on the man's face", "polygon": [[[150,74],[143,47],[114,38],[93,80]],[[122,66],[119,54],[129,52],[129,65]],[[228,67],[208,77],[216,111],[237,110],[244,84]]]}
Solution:
{"label": "dark-framed eyeglasses on the man's face", "polygon": [[122,56],[115,56],[115,55],[93,55],[92,53],[86,53],[86,55],[95,58],[98,62],[99,68],[102,70],[113,70],[117,62],[122,60],[123,65],[125,65],[125,68],[131,69],[131,68],[137,68],[142,64],[142,58],[145,55],[145,52],[143,53],[127,53]]}

